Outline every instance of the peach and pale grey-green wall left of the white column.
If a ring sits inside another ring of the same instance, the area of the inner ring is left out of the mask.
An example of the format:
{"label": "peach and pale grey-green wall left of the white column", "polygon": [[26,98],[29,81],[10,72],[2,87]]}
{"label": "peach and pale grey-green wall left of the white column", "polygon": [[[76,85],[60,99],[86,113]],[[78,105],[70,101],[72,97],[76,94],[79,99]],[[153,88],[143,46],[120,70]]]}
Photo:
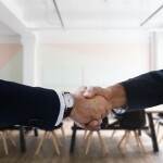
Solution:
{"label": "peach and pale grey-green wall left of the white column", "polygon": [[0,43],[0,79],[23,82],[23,51],[20,43]]}

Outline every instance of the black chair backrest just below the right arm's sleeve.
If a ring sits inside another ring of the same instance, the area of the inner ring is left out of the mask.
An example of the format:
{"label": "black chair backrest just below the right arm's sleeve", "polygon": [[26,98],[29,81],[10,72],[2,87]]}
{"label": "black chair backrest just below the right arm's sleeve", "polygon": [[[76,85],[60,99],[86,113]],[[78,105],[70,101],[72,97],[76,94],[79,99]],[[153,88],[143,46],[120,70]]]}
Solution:
{"label": "black chair backrest just below the right arm's sleeve", "polygon": [[141,129],[146,125],[145,110],[125,112],[120,120],[120,126],[124,129]]}

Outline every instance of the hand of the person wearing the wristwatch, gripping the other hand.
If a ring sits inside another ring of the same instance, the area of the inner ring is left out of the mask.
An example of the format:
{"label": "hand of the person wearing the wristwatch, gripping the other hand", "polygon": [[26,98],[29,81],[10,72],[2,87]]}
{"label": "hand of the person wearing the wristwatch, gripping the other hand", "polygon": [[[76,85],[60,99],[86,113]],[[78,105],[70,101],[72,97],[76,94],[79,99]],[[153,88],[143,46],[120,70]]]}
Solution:
{"label": "hand of the person wearing the wristwatch, gripping the other hand", "polygon": [[73,93],[75,104],[70,117],[77,124],[87,129],[100,129],[102,118],[110,113],[110,103],[100,96],[93,98],[85,98],[84,91],[86,88],[80,89]]}

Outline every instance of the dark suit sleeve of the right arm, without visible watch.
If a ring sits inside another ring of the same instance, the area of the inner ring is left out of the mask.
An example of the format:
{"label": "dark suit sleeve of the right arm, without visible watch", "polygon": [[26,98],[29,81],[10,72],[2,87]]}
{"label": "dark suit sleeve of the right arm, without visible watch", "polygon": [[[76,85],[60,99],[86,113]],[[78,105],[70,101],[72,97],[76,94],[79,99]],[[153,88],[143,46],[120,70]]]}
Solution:
{"label": "dark suit sleeve of the right arm, without visible watch", "polygon": [[163,70],[149,72],[121,84],[126,90],[128,111],[163,103]]}

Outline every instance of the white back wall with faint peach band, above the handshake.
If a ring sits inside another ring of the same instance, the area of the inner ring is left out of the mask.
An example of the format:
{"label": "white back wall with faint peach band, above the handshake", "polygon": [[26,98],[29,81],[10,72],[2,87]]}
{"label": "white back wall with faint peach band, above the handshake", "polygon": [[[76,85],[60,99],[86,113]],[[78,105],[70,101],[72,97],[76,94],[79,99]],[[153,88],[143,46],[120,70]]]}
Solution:
{"label": "white back wall with faint peach band, above the handshake", "polygon": [[149,34],[122,30],[96,37],[96,33],[64,32],[53,37],[53,43],[39,46],[38,61],[40,86],[58,90],[105,87],[150,70]]}

